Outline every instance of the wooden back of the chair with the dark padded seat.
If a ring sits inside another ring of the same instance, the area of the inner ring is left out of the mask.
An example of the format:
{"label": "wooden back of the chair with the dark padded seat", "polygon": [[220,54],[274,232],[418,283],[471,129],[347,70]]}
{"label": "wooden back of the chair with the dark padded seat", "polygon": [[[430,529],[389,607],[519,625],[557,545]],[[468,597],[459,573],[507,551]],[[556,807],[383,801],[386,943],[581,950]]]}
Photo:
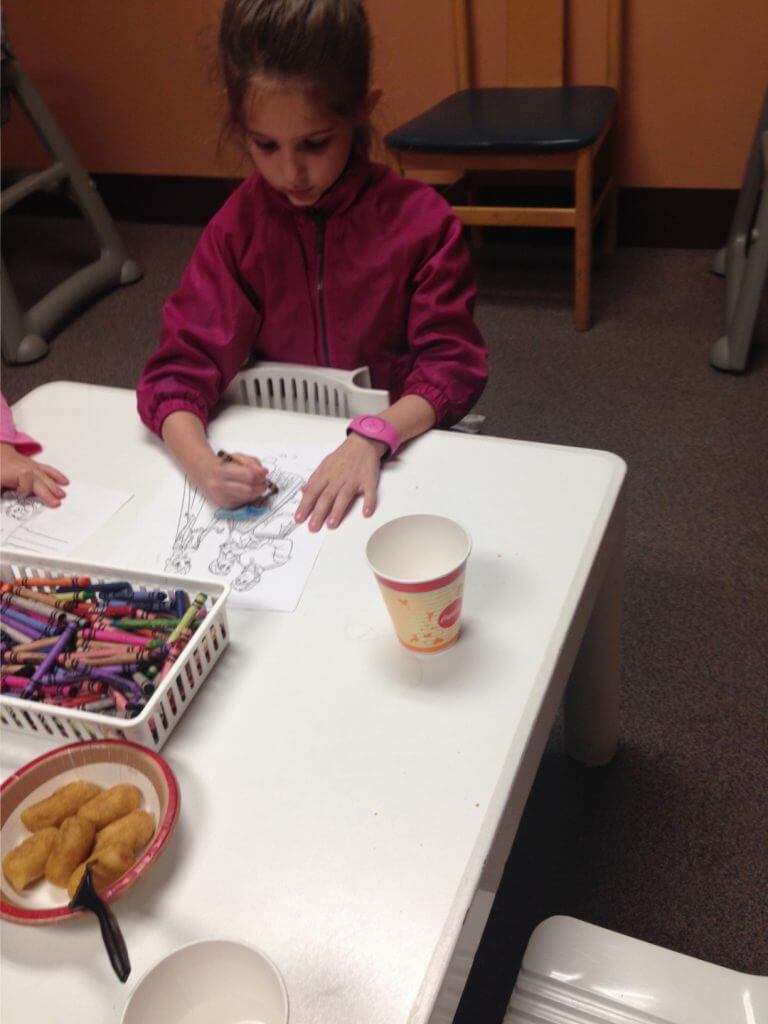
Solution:
{"label": "wooden back of the chair with the dark padded seat", "polygon": [[[623,0],[605,0],[605,84],[618,92]],[[474,84],[471,0],[453,0],[459,88]],[[560,86],[565,77],[564,0],[507,0],[508,86]]]}

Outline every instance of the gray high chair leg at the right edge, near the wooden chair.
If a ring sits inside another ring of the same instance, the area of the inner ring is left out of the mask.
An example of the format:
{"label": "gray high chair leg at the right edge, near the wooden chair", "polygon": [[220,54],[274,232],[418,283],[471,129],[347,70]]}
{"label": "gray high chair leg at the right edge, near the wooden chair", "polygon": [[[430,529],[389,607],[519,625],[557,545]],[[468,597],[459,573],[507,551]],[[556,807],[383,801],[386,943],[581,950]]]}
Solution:
{"label": "gray high chair leg at the right edge, near the wooden chair", "polygon": [[[768,274],[768,90],[724,253],[726,333],[713,345],[710,362],[718,370],[740,373],[746,366]],[[716,272],[719,256],[713,266]]]}

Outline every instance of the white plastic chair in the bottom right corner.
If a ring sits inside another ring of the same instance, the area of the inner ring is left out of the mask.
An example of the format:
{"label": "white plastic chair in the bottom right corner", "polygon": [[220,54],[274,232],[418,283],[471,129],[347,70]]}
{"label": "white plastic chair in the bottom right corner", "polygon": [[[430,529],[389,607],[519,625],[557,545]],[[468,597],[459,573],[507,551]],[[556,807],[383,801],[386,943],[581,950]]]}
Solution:
{"label": "white plastic chair in the bottom right corner", "polygon": [[534,931],[504,1024],[764,1024],[768,978],[574,918]]}

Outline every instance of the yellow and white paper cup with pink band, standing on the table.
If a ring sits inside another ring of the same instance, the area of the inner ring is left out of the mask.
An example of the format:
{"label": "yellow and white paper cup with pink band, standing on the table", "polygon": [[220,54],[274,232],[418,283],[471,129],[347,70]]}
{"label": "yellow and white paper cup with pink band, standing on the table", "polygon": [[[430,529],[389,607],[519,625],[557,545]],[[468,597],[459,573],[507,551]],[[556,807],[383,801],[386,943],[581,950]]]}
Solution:
{"label": "yellow and white paper cup with pink band, standing on the table", "polygon": [[380,526],[366,546],[397,639],[432,654],[456,643],[469,534],[439,515],[407,515]]}

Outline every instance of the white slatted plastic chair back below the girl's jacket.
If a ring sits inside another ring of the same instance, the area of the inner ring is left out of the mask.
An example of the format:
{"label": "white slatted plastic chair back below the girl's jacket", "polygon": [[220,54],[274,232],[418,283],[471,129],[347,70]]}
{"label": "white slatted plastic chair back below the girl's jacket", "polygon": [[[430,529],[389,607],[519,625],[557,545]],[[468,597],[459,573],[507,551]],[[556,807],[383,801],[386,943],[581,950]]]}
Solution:
{"label": "white slatted plastic chair back below the girl's jacket", "polygon": [[240,406],[349,419],[381,413],[389,404],[389,392],[371,387],[368,367],[333,370],[257,362],[238,374],[223,399]]}

